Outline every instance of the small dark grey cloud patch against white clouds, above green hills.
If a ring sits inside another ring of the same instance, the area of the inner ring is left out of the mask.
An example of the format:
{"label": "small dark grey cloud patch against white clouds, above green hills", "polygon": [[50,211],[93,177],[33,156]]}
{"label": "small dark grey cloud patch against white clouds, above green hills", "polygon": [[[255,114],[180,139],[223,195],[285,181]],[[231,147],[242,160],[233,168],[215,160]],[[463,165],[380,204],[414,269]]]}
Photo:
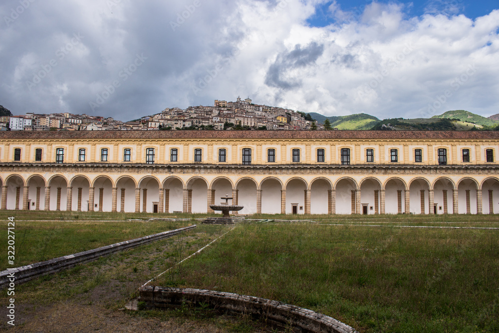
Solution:
{"label": "small dark grey cloud patch against white clouds, above green hills", "polygon": [[289,90],[301,85],[299,78],[286,79],[283,78],[289,70],[303,68],[313,64],[319,56],[324,52],[324,45],[319,45],[316,42],[308,44],[306,47],[295,45],[290,52],[282,52],[277,56],[277,59],[268,68],[265,76],[265,84],[271,87]]}

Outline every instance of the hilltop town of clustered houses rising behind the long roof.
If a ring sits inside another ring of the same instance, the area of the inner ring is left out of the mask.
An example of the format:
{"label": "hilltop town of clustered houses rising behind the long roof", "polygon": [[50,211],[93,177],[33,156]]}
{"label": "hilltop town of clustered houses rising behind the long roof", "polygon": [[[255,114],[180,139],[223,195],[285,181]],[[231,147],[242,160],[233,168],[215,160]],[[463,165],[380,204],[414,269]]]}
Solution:
{"label": "hilltop town of clustered houses rising behind the long roof", "polygon": [[321,127],[309,114],[303,112],[253,104],[250,98],[235,102],[215,100],[214,106],[166,108],[160,113],[132,121],[90,116],[87,114],[26,113],[19,116],[1,116],[0,128],[11,131],[46,130],[227,130],[227,129],[310,129]]}

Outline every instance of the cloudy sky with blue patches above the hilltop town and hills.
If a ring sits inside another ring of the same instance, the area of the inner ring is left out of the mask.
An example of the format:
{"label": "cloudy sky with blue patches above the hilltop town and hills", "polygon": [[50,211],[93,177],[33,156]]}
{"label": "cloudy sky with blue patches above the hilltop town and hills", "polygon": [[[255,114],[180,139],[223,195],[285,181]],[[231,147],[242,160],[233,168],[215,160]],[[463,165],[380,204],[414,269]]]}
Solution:
{"label": "cloudy sky with blue patches above the hilltop town and hills", "polygon": [[130,120],[254,103],[499,113],[498,0],[2,0],[0,104]]}

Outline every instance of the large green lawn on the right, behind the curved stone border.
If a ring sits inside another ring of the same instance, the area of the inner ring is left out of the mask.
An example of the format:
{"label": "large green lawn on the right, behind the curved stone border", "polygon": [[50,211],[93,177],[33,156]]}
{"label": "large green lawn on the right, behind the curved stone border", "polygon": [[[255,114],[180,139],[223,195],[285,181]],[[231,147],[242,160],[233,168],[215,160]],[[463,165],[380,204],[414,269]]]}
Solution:
{"label": "large green lawn on the right, behind the curved stone border", "polygon": [[[497,225],[496,225],[497,226]],[[247,224],[177,281],[332,316],[361,332],[498,332],[499,231]]]}

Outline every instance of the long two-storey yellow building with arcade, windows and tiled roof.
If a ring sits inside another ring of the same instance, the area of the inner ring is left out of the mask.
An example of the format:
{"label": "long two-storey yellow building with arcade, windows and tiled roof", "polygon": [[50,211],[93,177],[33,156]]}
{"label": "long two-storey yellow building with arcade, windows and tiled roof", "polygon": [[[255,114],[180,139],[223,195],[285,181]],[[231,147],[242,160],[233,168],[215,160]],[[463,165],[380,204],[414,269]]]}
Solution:
{"label": "long two-storey yellow building with arcade, windows and tiled roof", "polygon": [[498,132],[1,132],[1,208],[492,214],[498,154]]}

